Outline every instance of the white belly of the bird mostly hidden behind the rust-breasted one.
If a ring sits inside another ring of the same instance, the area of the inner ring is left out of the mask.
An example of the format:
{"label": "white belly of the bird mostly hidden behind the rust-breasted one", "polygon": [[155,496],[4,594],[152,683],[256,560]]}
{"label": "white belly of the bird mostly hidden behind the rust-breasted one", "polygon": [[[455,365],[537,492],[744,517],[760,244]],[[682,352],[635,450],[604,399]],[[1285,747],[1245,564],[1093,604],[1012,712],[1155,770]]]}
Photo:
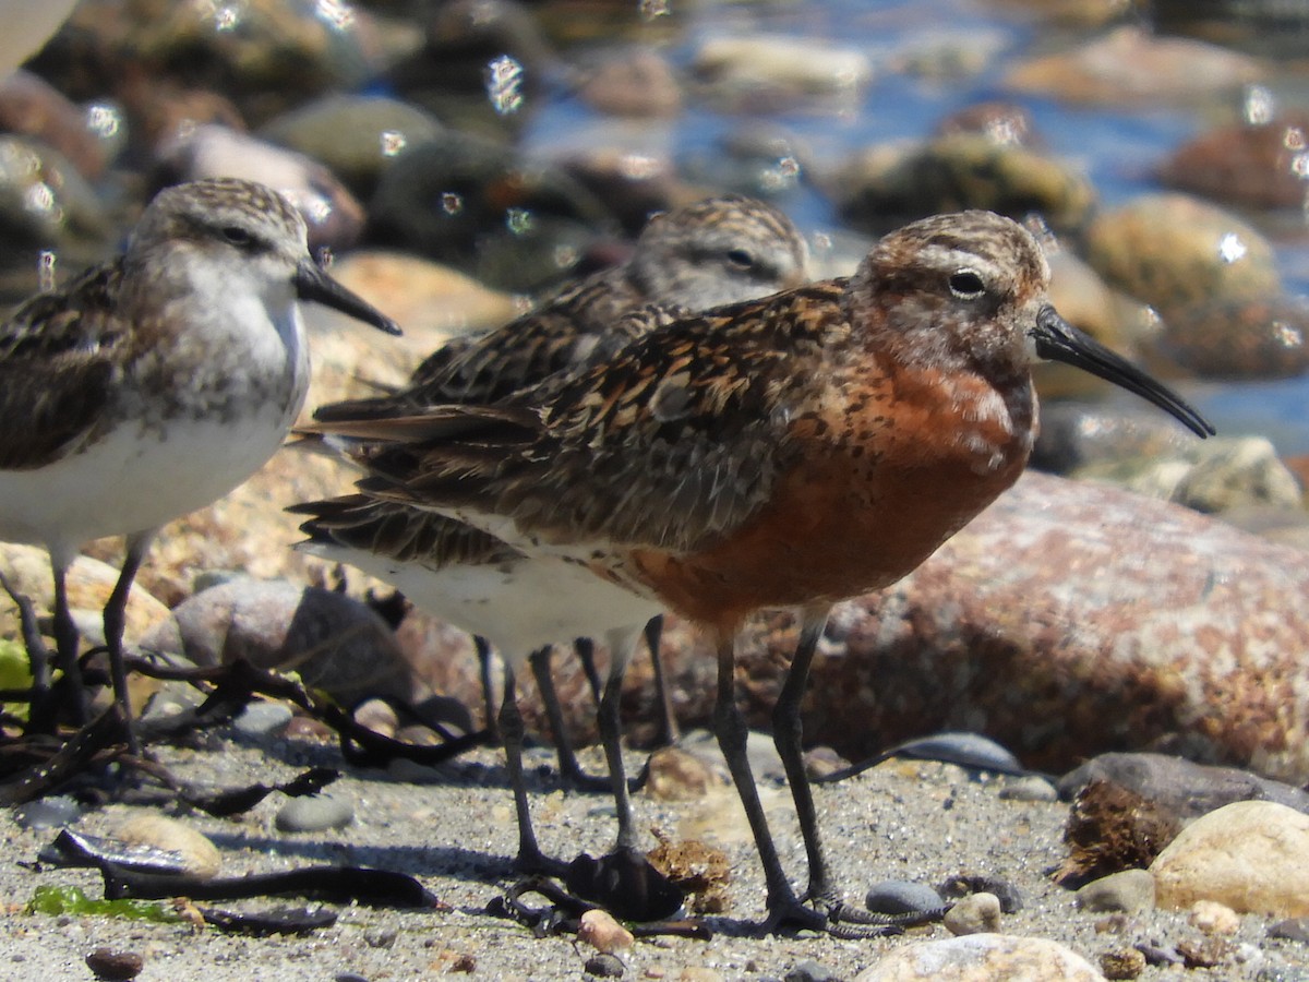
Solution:
{"label": "white belly of the bird mostly hidden behind the rust-breasted one", "polygon": [[554,558],[432,570],[355,549],[302,549],[390,583],[427,613],[490,640],[516,668],[543,644],[640,628],[661,613],[657,604]]}

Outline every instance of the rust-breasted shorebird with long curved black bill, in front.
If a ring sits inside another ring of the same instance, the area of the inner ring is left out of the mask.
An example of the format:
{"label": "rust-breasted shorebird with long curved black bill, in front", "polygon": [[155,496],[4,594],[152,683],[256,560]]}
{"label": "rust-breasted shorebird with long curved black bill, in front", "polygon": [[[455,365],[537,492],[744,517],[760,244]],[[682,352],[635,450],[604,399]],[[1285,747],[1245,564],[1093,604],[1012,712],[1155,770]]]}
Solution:
{"label": "rust-breasted shorebird with long curved black bill, in front", "polygon": [[[406,420],[368,456],[360,490],[699,625],[717,652],[719,744],[763,864],[764,928],[877,934],[874,915],[835,890],[801,759],[800,702],[833,604],[895,583],[1013,484],[1035,435],[1034,359],[1213,432],[1063,321],[1049,275],[1008,219],[915,221],[848,279],[681,319],[562,388]],[[734,638],[768,608],[801,611],[774,740],[804,834],[802,894],[774,846],[736,704]]]}

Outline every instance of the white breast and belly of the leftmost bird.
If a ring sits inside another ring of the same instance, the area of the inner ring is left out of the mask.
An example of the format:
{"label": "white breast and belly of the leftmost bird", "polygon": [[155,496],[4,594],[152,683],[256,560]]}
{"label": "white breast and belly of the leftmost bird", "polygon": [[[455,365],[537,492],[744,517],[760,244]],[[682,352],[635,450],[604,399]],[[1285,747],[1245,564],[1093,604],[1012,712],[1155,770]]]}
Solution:
{"label": "white breast and belly of the leftmost bird", "polygon": [[[211,504],[272,457],[308,389],[300,313],[291,304],[271,317],[240,292],[228,306],[120,381],[105,409],[119,426],[42,467],[0,471],[0,539],[69,562],[90,539]],[[151,388],[161,382],[179,391]]]}

